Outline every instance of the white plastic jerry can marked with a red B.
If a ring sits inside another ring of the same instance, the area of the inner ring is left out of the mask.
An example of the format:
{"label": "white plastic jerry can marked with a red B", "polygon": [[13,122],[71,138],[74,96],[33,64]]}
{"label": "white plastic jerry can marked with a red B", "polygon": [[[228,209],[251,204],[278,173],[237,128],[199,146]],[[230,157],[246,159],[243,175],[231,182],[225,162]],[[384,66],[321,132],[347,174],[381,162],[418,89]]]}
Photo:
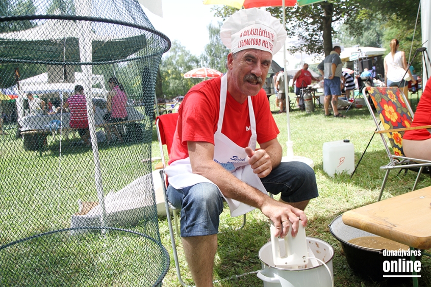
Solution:
{"label": "white plastic jerry can marked with a red B", "polygon": [[330,177],[354,170],[354,147],[348,139],[323,143],[323,170]]}

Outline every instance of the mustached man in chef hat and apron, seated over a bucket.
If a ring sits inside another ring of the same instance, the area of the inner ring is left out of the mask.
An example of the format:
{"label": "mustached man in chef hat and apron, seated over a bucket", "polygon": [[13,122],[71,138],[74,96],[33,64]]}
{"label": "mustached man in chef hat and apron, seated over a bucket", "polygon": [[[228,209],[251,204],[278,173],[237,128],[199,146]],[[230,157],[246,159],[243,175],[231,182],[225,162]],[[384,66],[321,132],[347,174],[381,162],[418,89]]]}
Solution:
{"label": "mustached man in chef hat and apron, seated over a bucket", "polygon": [[275,236],[284,238],[289,226],[295,236],[298,225],[307,224],[303,209],[318,196],[310,166],[281,163],[279,131],[262,89],[272,54],[286,39],[280,21],[243,9],[224,23],[220,37],[231,49],[228,71],[185,96],[166,168],[167,196],[181,209],[183,247],[198,287],[212,286],[223,198],[232,216],[259,208],[274,222]]}

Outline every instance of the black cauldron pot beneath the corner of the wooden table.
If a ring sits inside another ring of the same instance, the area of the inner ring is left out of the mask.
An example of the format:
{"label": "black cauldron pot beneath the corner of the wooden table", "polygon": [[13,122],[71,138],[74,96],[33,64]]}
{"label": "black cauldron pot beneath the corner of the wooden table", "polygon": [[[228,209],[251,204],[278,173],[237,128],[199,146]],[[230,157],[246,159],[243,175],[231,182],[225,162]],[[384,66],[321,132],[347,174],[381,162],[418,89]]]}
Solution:
{"label": "black cauldron pot beneath the corner of the wooden table", "polygon": [[[344,255],[350,268],[359,276],[374,281],[396,279],[397,281],[412,278],[409,277],[383,277],[383,275],[412,275],[410,272],[384,272],[383,263],[385,261],[398,261],[398,259],[411,260],[410,256],[384,256],[382,250],[362,247],[349,243],[349,240],[364,236],[377,236],[361,229],[348,226],[343,223],[342,215],[337,216],[331,224],[329,231],[341,243]],[[417,256],[416,260],[420,260]]]}

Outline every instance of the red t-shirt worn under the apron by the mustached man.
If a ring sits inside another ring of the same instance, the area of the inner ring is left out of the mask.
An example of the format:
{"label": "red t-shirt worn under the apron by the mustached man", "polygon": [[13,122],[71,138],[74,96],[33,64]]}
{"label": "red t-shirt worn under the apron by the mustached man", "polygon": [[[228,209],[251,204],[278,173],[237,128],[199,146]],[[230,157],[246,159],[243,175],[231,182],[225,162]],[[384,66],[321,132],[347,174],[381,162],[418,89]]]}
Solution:
{"label": "red t-shirt worn under the apron by the mustached man", "polygon": [[[173,138],[169,164],[189,156],[187,141],[205,141],[214,145],[214,133],[220,111],[221,78],[214,78],[195,85],[181,103],[178,124]],[[269,109],[269,102],[262,89],[251,97],[256,118],[259,143],[277,137],[280,131]],[[227,92],[221,132],[240,147],[247,147],[251,136],[248,101],[238,103]]]}

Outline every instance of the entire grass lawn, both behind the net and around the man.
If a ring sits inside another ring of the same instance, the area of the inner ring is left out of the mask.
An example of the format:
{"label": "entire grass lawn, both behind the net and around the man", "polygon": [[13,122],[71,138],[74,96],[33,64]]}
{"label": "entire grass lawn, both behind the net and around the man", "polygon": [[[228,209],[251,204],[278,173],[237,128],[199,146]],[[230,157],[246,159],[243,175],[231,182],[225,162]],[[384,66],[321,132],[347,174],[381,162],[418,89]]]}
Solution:
{"label": "entire grass lawn, both behind the net and around the man", "polygon": [[[414,104],[417,102],[416,96],[412,101]],[[274,96],[270,98],[270,102],[275,111]],[[366,108],[351,109],[346,116],[346,119],[325,118],[321,108],[317,108],[314,113],[298,110],[290,113],[294,153],[314,161],[319,188],[319,197],[311,200],[306,209],[309,218],[306,234],[334,247],[336,286],[411,286],[410,278],[394,283],[372,282],[357,276],[348,267],[340,243],[329,233],[328,224],[336,216],[376,201],[384,176],[384,171],[379,167],[388,163],[381,138],[374,136],[352,179],[346,174],[331,178],[323,172],[324,142],[349,139],[354,145],[357,163],[373,134],[374,123]],[[274,113],[273,117],[281,131],[278,140],[286,155],[286,113]],[[42,154],[24,151],[22,140],[13,136],[14,127],[7,128],[10,128],[7,130],[9,135],[0,137],[0,246],[43,232],[68,228],[70,216],[78,211],[78,199],[97,200],[94,192],[93,154],[90,149],[71,149],[71,143],[78,140],[65,141],[60,156],[59,143],[50,139],[49,148]],[[157,161],[150,165],[148,159],[159,157],[160,152],[155,127],[151,129],[149,123],[143,141],[151,142],[151,150],[149,145],[145,147],[136,142],[118,146],[100,145],[98,156],[105,195],[110,191],[118,191],[151,168],[154,169]],[[413,171],[405,175],[391,171],[383,198],[409,192],[415,178],[416,173]],[[143,190],[151,190],[151,184],[150,181],[145,183]],[[417,188],[429,185],[429,175],[422,175]],[[149,196],[149,200],[154,198]],[[428,221],[424,219],[424,224]],[[240,224],[241,218],[230,217],[229,209],[226,208],[221,219],[222,234],[218,236],[219,248],[214,270],[216,279],[261,269],[258,252],[269,238],[266,218],[259,210],[254,210],[247,214],[245,227],[241,231],[233,231]],[[176,278],[166,218],[149,217],[136,226],[121,227],[156,240],[160,235],[162,244],[170,254],[170,268],[163,285],[180,286]],[[0,249],[0,285],[146,286],[147,282],[154,281],[155,274],[160,274],[160,269],[156,270],[156,267],[148,265],[157,260],[156,257],[162,256],[157,253],[159,251],[154,242],[143,241],[142,237],[129,233],[109,232],[105,237],[99,235],[90,233],[81,238],[70,237],[65,233],[53,234],[46,240],[34,238]],[[183,279],[192,284],[181,240],[177,243]],[[424,256],[420,286],[431,285],[430,267],[431,260]],[[11,273],[18,277],[11,279]],[[153,277],[143,281],[148,273]],[[216,286],[228,287],[262,285],[263,282],[256,274],[216,283]]]}

